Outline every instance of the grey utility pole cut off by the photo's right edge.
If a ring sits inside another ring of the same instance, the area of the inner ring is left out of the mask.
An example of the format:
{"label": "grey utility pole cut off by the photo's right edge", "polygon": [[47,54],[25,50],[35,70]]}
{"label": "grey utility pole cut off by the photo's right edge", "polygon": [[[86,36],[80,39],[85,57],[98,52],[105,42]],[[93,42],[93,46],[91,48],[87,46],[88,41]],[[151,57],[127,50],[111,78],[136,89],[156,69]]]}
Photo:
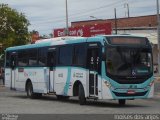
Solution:
{"label": "grey utility pole cut off by the photo's right edge", "polygon": [[160,75],[160,18],[159,18],[159,0],[156,1],[157,5],[157,42],[158,42],[158,74]]}

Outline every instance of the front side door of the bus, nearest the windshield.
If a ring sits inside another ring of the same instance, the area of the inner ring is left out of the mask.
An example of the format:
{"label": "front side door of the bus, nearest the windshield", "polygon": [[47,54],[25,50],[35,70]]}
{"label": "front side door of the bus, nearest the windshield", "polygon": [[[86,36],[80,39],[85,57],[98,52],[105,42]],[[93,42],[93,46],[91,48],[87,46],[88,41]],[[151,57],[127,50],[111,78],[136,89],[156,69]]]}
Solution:
{"label": "front side door of the bus, nearest the windshield", "polygon": [[[98,97],[99,85],[101,80],[98,78],[100,73],[100,48],[97,43],[89,43],[87,50],[87,68],[89,69],[89,96]],[[99,84],[99,85],[98,85]]]}

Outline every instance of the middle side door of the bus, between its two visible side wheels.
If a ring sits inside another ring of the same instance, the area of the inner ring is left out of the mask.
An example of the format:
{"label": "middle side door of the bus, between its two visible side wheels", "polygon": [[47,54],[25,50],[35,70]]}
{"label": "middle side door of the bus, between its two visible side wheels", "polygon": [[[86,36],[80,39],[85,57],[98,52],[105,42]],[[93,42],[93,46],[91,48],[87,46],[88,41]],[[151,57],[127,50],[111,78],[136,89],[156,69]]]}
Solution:
{"label": "middle side door of the bus, between its two visible side wheels", "polygon": [[56,50],[48,51],[47,66],[49,67],[49,92],[54,92]]}

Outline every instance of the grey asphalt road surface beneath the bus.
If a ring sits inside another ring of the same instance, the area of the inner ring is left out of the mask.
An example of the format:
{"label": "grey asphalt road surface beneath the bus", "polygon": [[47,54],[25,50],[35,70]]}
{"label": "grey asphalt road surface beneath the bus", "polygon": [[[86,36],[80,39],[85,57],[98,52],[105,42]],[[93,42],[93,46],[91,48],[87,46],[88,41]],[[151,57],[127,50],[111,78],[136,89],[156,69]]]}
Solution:
{"label": "grey asphalt road surface beneath the bus", "polygon": [[0,87],[0,113],[16,114],[124,114],[124,113],[160,113],[160,99],[127,101],[121,107],[117,101],[88,101],[79,105],[77,98],[59,101],[55,96],[43,96],[41,99],[29,99],[25,93],[10,91]]}

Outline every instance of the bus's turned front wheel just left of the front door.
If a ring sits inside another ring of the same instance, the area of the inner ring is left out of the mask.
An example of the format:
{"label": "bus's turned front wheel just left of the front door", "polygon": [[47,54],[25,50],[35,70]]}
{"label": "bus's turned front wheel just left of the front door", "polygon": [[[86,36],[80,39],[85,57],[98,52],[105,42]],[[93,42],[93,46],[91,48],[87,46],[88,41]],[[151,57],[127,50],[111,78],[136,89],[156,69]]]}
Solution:
{"label": "bus's turned front wheel just left of the front door", "polygon": [[79,84],[79,104],[80,105],[85,105],[86,104],[86,98],[85,98],[85,93],[84,93],[84,88],[82,84]]}

